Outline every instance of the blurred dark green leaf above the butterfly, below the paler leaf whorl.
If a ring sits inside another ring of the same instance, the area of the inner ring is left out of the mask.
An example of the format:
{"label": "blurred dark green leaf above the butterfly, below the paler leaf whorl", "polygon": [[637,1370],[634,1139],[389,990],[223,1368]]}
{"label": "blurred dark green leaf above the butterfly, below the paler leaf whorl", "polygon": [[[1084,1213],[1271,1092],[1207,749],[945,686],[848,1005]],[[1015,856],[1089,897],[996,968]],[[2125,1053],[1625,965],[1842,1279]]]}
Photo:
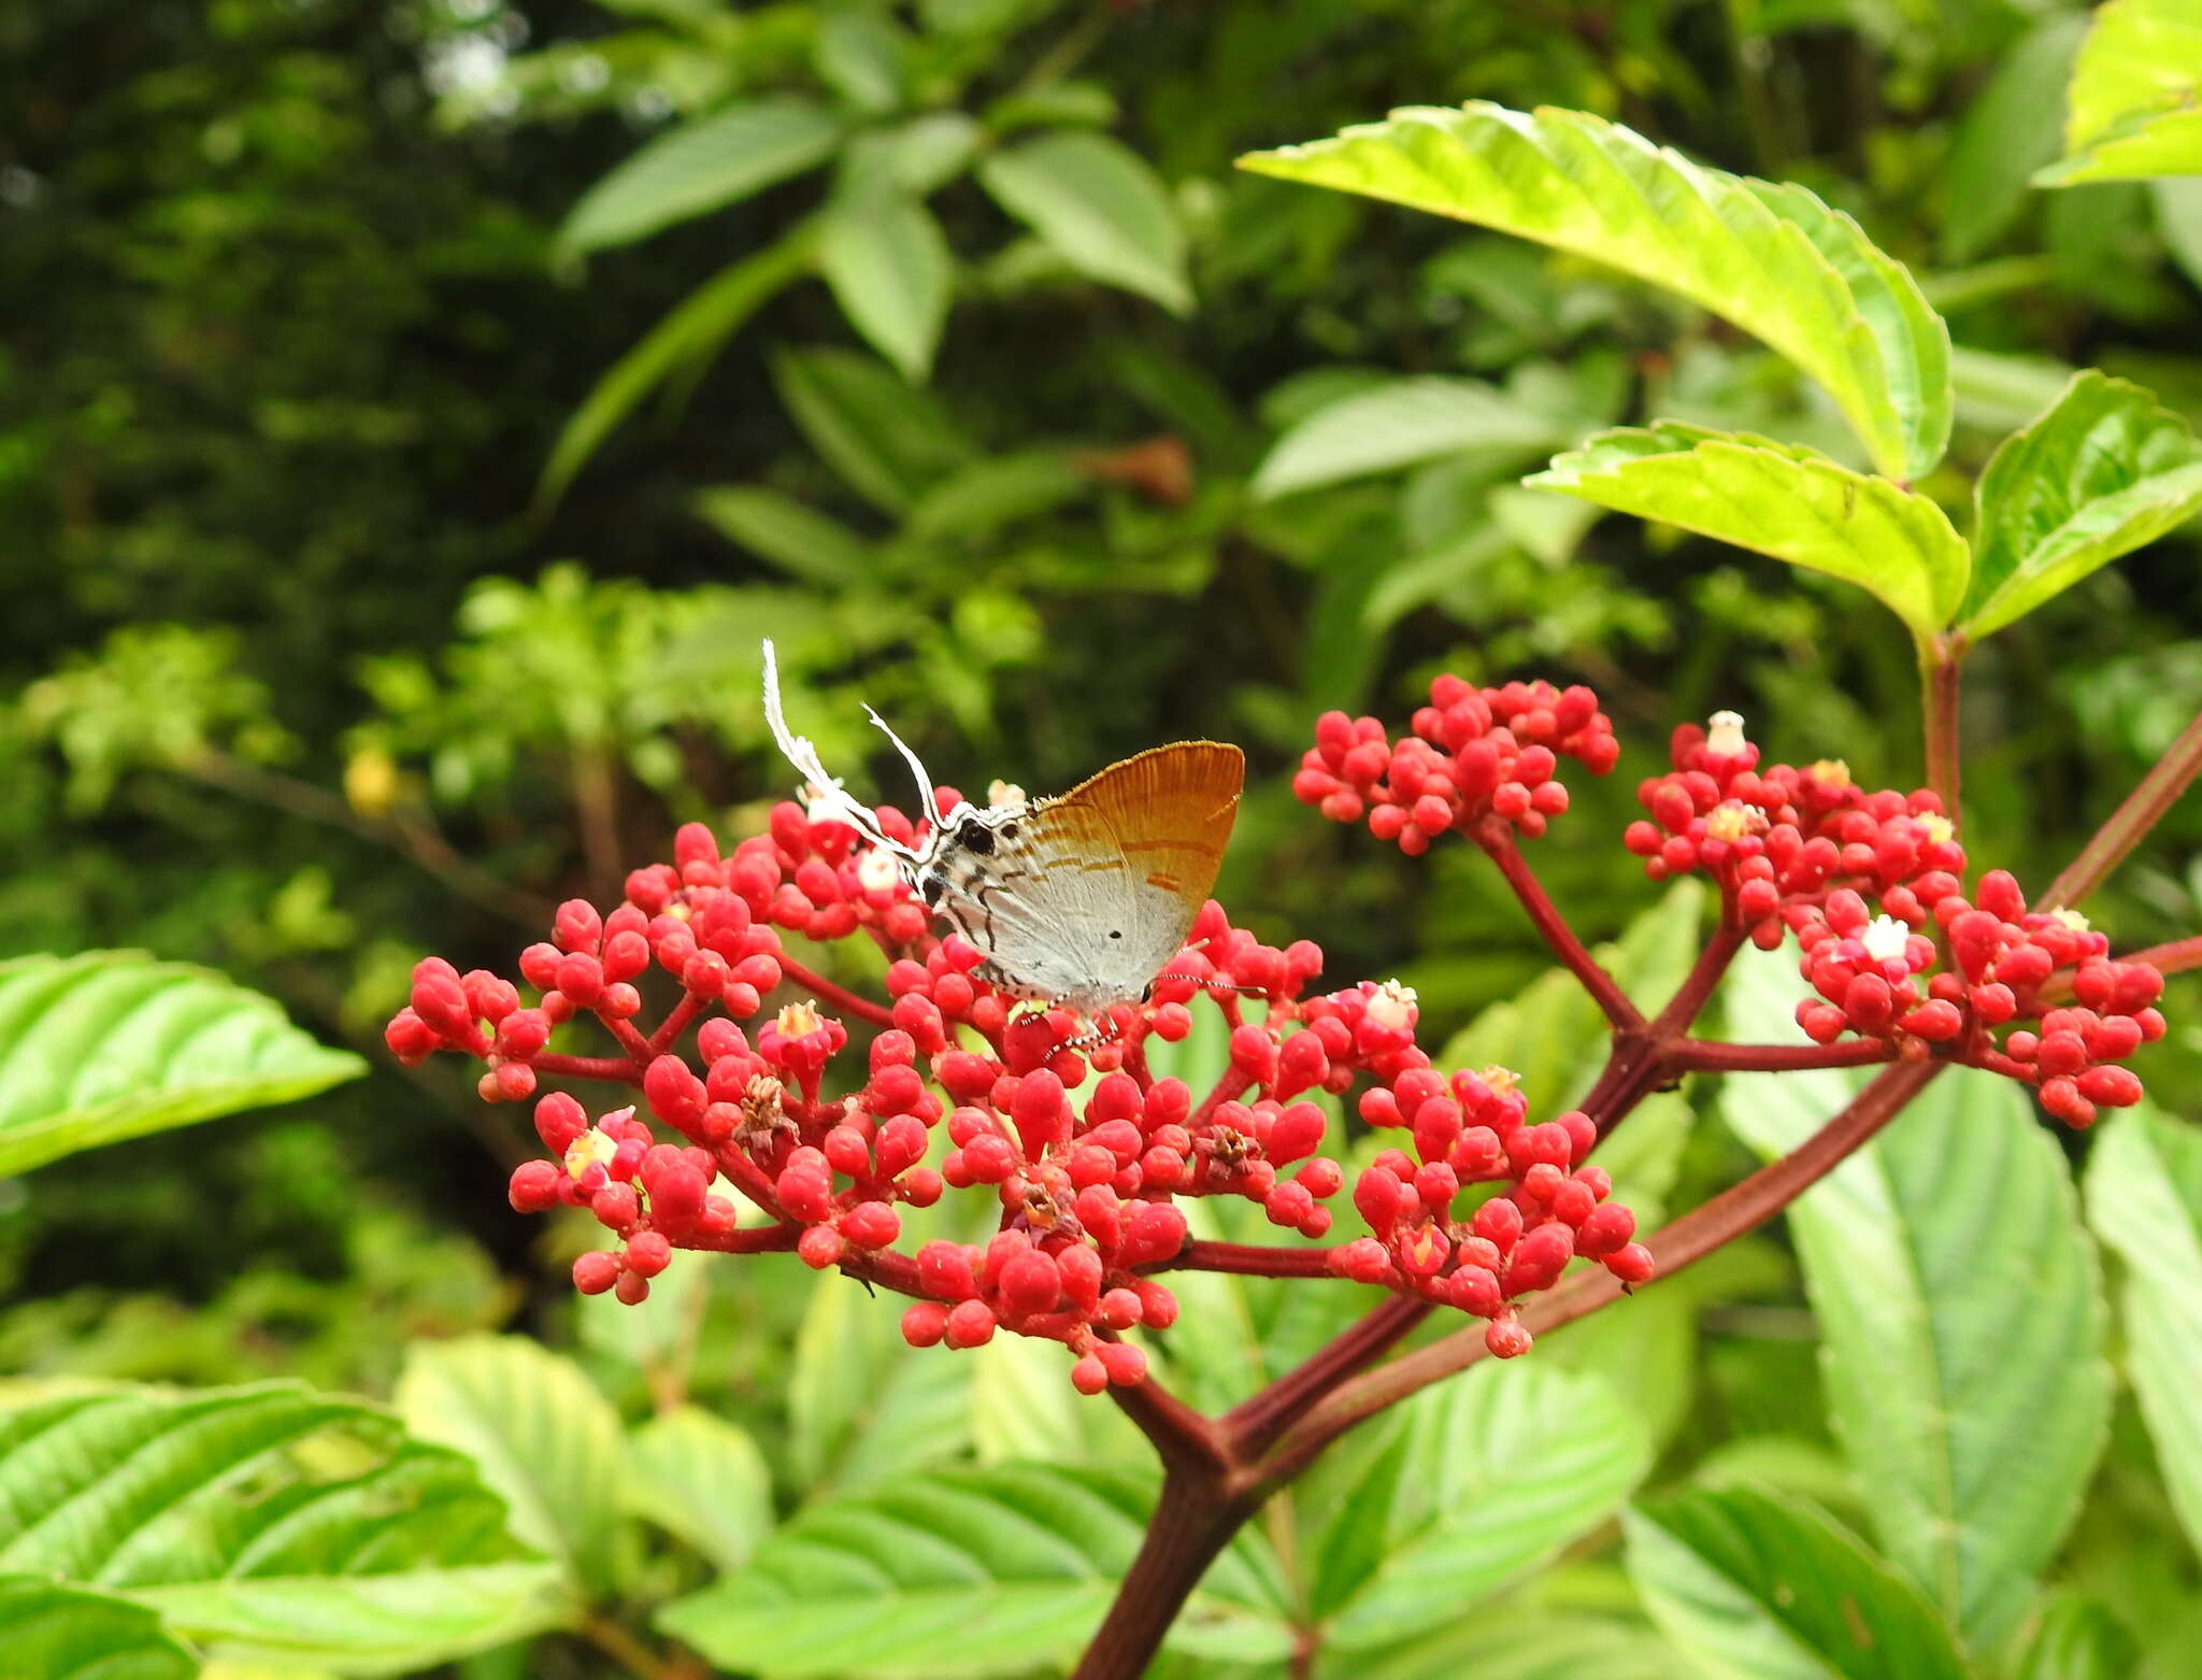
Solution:
{"label": "blurred dark green leaf above the butterfly, below the paler leaf whorl", "polygon": [[773,385],[826,465],[887,513],[971,458],[938,401],[854,350],[777,350]]}

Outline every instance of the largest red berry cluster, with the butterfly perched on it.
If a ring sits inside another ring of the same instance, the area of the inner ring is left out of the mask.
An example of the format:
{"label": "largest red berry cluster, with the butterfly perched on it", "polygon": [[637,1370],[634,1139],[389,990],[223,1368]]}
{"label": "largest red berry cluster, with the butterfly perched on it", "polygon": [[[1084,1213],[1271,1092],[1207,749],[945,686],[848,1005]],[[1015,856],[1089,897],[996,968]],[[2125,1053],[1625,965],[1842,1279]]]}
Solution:
{"label": "largest red berry cluster, with the butterfly perched on it", "polygon": [[[881,823],[918,839],[898,812]],[[1083,1389],[1138,1381],[1143,1356],[1116,1337],[1174,1321],[1176,1297],[1143,1270],[1185,1248],[1182,1198],[1238,1196],[1277,1226],[1326,1235],[1343,1171],[1321,1154],[1321,1099],[1427,1068],[1411,995],[1363,984],[1304,997],[1321,951],[1264,945],[1218,905],[1149,1002],[1116,1006],[1083,1035],[1068,1011],[1013,1017],[1015,1002],[975,978],[980,953],[934,940],[885,863],[846,823],[793,804],[731,854],[691,823],[674,861],[630,874],[608,914],[559,907],[553,938],[520,958],[539,1002],[432,958],[390,1022],[390,1048],[407,1063],[432,1050],[484,1061],[493,1101],[557,1077],[641,1088],[672,1136],[634,1108],[592,1123],[575,1097],[546,1092],[535,1127],[548,1154],[511,1178],[515,1209],[586,1209],[617,1237],[575,1262],[584,1292],[641,1301],[674,1248],[795,1248],[916,1295],[914,1343],[971,1348],[995,1328],[1064,1341]],[[863,934],[887,949],[887,1002],[841,1000],[879,1028],[859,1079],[837,1077],[850,1046],[841,1019],[815,1002],[764,1013],[791,969],[824,986],[780,929]],[[674,1000],[647,1035],[645,986]],[[1202,1000],[1229,1026],[1229,1061],[1196,1094],[1154,1077],[1145,1048],[1182,1039]],[[623,1055],[553,1050],[553,1033],[581,1015]],[[1000,1235],[898,1253],[903,1209],[949,1187],[993,1191]]]}

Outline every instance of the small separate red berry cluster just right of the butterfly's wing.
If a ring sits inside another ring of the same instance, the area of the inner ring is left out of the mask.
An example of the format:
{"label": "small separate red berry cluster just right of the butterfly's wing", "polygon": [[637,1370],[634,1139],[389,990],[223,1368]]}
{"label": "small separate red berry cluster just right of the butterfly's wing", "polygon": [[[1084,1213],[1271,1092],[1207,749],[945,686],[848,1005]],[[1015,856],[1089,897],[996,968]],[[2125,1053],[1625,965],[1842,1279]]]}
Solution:
{"label": "small separate red berry cluster just right of the butterfly's wing", "polygon": [[1592,775],[1621,757],[1596,694],[1550,683],[1478,689],[1440,676],[1414,713],[1414,733],[1398,742],[1376,718],[1326,711],[1293,793],[1339,823],[1367,817],[1376,839],[1420,857],[1447,828],[1484,817],[1541,834],[1568,808],[1568,788],[1555,779],[1561,757]]}

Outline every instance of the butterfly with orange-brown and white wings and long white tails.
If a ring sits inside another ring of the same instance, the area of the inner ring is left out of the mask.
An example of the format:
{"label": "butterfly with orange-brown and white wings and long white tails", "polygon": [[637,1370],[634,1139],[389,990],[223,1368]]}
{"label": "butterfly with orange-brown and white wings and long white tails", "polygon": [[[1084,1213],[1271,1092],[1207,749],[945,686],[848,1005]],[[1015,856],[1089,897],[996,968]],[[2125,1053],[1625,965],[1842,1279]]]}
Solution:
{"label": "butterfly with orange-brown and white wings and long white tails", "polygon": [[1092,1017],[1145,1002],[1185,949],[1222,865],[1246,786],[1246,755],[1211,740],[1149,746],[1048,799],[969,799],[942,810],[918,755],[865,707],[918,779],[931,826],[918,846],[881,830],[876,812],[826,775],[817,749],[780,709],[780,669],[764,643],[764,718],[810,782],[815,812],[850,823],[896,861],[940,920],[984,956],[973,971],[1013,997]]}

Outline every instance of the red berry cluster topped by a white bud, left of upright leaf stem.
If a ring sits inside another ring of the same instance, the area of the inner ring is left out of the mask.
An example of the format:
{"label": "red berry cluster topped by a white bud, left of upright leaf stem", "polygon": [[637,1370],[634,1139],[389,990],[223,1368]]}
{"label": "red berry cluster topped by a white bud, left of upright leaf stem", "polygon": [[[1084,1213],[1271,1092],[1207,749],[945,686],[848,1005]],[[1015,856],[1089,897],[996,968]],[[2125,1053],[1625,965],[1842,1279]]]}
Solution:
{"label": "red berry cluster topped by a white bud, left of upright leaf stem", "polygon": [[1762,773],[1733,711],[1715,713],[1709,731],[1676,729],[1671,755],[1674,771],[1636,788],[1652,821],[1629,823],[1623,843],[1654,881],[1707,872],[1762,949],[1781,942],[1784,903],[1832,885],[1949,892],[1964,870],[1936,793],[1867,793],[1841,760]]}

